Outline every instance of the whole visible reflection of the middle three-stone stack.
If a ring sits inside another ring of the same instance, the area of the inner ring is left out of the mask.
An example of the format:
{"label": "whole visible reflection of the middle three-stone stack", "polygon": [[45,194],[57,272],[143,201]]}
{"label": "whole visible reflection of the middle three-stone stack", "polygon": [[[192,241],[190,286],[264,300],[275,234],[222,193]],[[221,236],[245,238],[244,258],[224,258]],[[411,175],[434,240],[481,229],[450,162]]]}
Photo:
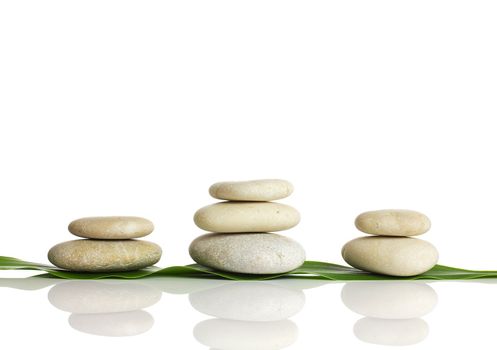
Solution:
{"label": "whole visible reflection of the middle three-stone stack", "polygon": [[298,327],[287,318],[302,310],[300,288],[281,283],[231,282],[190,294],[190,303],[219,318],[197,324],[195,338],[212,349],[276,350],[293,344]]}

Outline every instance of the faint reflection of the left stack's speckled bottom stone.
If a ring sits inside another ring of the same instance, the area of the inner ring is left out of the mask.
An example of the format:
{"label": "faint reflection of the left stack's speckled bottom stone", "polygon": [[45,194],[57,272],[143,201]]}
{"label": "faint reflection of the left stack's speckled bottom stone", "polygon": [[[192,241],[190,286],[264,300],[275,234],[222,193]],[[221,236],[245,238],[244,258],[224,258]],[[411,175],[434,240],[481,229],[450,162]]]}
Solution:
{"label": "faint reflection of the left stack's speckled bottom stone", "polygon": [[48,300],[62,311],[93,314],[143,309],[161,296],[160,291],[135,281],[69,281],[53,286]]}

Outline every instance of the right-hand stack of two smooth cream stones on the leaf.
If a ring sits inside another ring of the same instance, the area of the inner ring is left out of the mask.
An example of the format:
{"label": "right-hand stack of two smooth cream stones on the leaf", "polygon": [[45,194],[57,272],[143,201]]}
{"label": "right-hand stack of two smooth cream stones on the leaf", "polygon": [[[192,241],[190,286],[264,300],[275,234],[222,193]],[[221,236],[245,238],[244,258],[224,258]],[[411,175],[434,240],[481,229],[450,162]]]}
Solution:
{"label": "right-hand stack of two smooth cream stones on the leaf", "polygon": [[414,276],[438,261],[437,249],[410,236],[426,233],[430,219],[412,210],[376,210],[355,220],[357,229],[374,237],[356,238],[342,248],[344,260],[361,270],[390,276]]}

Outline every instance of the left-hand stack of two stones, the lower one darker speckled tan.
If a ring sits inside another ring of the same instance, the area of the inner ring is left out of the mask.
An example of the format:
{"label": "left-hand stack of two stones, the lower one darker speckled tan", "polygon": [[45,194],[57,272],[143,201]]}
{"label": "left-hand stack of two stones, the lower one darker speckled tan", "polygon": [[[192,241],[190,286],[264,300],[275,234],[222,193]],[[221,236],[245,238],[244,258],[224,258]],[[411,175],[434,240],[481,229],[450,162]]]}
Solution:
{"label": "left-hand stack of two stones, the lower one darker speckled tan", "polygon": [[135,216],[88,217],[69,224],[78,239],[59,243],[48,260],[61,269],[78,272],[139,270],[159,261],[162,250],[151,242],[135,240],[154,230],[151,221]]}

